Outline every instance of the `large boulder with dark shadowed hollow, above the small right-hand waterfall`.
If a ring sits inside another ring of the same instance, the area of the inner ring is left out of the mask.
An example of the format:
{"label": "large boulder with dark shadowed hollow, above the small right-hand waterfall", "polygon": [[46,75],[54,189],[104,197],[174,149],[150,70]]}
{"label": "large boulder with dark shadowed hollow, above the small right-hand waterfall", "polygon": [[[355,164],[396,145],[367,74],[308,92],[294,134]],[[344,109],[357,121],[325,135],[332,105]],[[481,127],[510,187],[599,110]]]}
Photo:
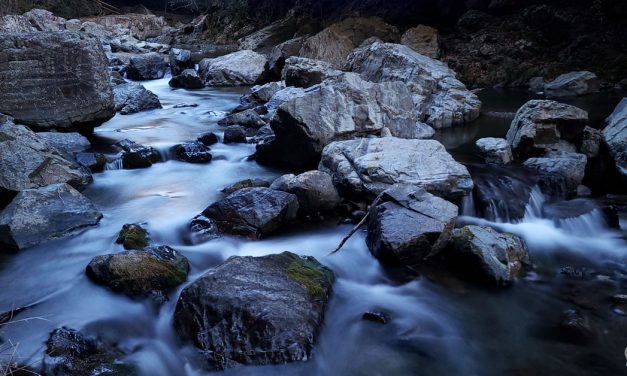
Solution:
{"label": "large boulder with dark shadowed hollow, above the small right-hand waterfall", "polygon": [[515,157],[529,158],[581,144],[588,113],[549,100],[531,100],[516,112],[507,132]]}

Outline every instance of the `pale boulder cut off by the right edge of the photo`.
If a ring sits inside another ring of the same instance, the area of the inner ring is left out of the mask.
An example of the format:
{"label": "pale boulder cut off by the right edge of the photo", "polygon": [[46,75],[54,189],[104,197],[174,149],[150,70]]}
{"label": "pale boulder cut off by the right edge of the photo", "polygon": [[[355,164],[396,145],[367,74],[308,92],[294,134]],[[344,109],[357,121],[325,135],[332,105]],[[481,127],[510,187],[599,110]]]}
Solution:
{"label": "pale boulder cut off by the right edge of the photo", "polygon": [[627,182],[627,98],[623,98],[606,122],[603,139],[618,172]]}

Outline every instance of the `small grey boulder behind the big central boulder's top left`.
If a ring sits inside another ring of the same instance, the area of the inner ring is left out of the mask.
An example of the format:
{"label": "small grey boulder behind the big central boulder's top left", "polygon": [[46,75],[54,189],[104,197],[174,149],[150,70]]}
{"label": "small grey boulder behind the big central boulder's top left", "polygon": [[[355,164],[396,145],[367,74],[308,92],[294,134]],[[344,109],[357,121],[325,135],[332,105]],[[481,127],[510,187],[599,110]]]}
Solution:
{"label": "small grey boulder behind the big central boulder's top left", "polygon": [[342,74],[331,63],[304,57],[290,57],[285,60],[281,78],[286,86],[308,88],[321,83],[329,77]]}

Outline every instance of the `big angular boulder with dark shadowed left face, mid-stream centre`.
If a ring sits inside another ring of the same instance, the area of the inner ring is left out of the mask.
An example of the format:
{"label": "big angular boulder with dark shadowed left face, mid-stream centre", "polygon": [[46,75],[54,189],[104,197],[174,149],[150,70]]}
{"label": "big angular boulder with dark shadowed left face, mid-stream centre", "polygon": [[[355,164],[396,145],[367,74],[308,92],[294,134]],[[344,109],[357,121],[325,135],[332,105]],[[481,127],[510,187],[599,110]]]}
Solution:
{"label": "big angular boulder with dark shadowed left face, mid-stream centre", "polygon": [[[414,136],[417,117],[401,82],[372,83],[345,73],[281,104],[271,121],[276,140],[258,150],[261,162],[308,167],[336,140],[380,135]],[[409,138],[408,137],[408,138]]]}

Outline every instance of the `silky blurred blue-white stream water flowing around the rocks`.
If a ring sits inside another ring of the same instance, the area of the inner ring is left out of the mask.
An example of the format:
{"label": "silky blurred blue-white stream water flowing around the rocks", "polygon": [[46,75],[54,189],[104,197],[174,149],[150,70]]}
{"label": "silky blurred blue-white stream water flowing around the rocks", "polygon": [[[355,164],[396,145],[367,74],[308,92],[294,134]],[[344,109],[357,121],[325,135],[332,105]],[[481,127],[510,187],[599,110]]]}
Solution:
{"label": "silky blurred blue-white stream water flowing around the rocks", "polygon": [[[163,109],[116,116],[96,129],[94,149],[112,152],[122,139],[157,148],[164,158],[177,143],[207,131],[220,132],[217,120],[235,107],[244,90],[171,90],[167,79],[148,82]],[[507,95],[505,96],[507,97]],[[504,99],[484,94],[486,107],[515,111],[526,94]],[[585,102],[606,116],[608,101]],[[194,104],[196,107],[182,107]],[[176,108],[175,108],[176,107]],[[503,136],[510,119],[483,117],[475,125],[444,132],[440,139],[460,160],[476,163],[468,147],[478,137]],[[145,223],[155,244],[180,250],[191,263],[188,281],[233,255],[265,255],[289,250],[313,255],[331,267],[337,281],[313,358],[304,363],[238,367],[226,375],[541,375],[620,374],[625,372],[627,316],[608,299],[627,292],[627,242],[624,229],[610,229],[600,212],[556,221],[543,218],[544,197],[532,186],[522,220],[508,220],[498,205],[479,215],[468,201],[463,223],[510,231],[529,245],[536,266],[515,286],[495,291],[432,275],[408,279],[383,269],[365,245],[363,232],[334,256],[326,254],[351,225],[320,224],[262,241],[224,237],[192,245],[191,218],[222,197],[220,188],[244,178],[266,180],[282,171],[246,160],[252,145],[212,147],[214,160],[194,165],[173,160],[144,170],[109,164],[94,175],[84,193],[103,212],[99,226],[0,259],[0,312],[34,306],[0,329],[19,343],[24,362],[41,359],[48,333],[58,327],[99,334],[130,353],[145,375],[203,375],[192,347],[172,329],[172,312],[182,286],[161,307],[114,294],[90,282],[85,266],[97,255],[119,252],[114,244],[125,223]],[[489,174],[489,171],[488,171]],[[493,173],[493,176],[500,176]],[[521,178],[527,184],[525,178]],[[531,183],[529,183],[531,184]],[[498,185],[491,189],[499,190]],[[478,217],[478,215],[481,217]],[[621,237],[623,236],[623,237]],[[559,268],[582,268],[573,283]],[[586,346],[557,341],[552,327],[564,309],[588,313],[596,338]],[[387,325],[362,321],[365,311],[383,310]]]}

